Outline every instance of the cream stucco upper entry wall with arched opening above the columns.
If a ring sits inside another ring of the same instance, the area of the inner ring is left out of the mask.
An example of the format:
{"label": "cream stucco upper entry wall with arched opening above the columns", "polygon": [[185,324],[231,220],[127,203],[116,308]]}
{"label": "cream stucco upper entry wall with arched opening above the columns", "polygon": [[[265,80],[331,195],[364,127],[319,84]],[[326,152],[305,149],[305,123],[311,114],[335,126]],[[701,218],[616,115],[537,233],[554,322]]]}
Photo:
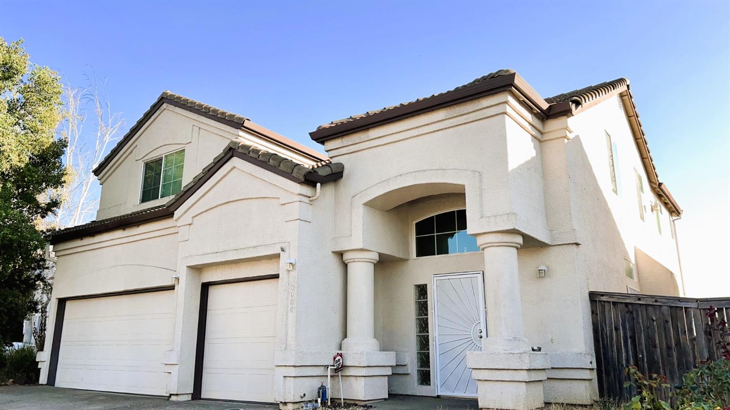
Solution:
{"label": "cream stucco upper entry wall with arched opening above the columns", "polygon": [[450,192],[466,193],[469,232],[516,229],[548,242],[541,153],[515,125],[515,118],[528,127],[534,119],[515,105],[502,93],[328,140],[332,159],[347,167],[336,192],[334,250],[368,248],[405,258],[407,249],[393,246],[401,238],[366,228],[390,224],[383,221],[388,216],[364,208],[387,211]]}

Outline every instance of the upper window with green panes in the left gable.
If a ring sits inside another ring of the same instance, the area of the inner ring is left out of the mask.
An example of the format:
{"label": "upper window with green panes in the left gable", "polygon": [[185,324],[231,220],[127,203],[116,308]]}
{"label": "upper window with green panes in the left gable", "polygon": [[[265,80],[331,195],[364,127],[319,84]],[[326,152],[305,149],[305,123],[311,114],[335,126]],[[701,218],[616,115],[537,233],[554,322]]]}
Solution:
{"label": "upper window with green panes in the left gable", "polygon": [[142,175],[142,197],[139,202],[169,197],[183,188],[183,163],[185,150],[168,153],[158,159],[145,162]]}

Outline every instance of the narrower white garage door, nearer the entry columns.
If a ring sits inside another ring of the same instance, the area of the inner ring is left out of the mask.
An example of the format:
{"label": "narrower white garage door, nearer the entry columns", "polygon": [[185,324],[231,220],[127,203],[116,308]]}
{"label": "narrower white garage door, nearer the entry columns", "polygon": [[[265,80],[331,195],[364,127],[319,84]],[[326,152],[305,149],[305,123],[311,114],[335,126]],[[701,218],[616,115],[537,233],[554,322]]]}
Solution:
{"label": "narrower white garage door, nearer the entry columns", "polygon": [[274,401],[278,281],[208,289],[201,398]]}

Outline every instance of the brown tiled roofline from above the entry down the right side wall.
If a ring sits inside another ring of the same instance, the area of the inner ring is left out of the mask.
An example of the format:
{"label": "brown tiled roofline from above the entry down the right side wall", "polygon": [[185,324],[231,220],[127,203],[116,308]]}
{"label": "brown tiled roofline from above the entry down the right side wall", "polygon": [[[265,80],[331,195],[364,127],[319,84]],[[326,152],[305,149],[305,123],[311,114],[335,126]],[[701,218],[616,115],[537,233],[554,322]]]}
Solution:
{"label": "brown tiled roofline from above the entry down the right side wall", "polygon": [[629,80],[623,77],[543,99],[517,72],[512,69],[499,69],[496,72],[491,72],[488,75],[479,77],[470,83],[464,84],[464,86],[458,86],[450,91],[331,121],[328,124],[318,126],[315,131],[310,132],[310,137],[312,137],[312,140],[321,144],[326,140],[343,137],[363,129],[388,124],[393,121],[412,117],[413,115],[428,113],[429,111],[438,110],[442,107],[502,91],[512,91],[520,101],[542,119],[575,115],[581,110],[588,109],[588,107],[596,105],[610,96],[615,94],[621,95],[623,106],[629,118],[629,124],[631,125],[631,131],[634,134],[634,140],[636,140],[637,148],[639,149],[639,155],[642,158],[649,178],[650,186],[662,202],[664,202],[664,205],[666,205],[669,211],[672,212],[672,215],[682,215],[682,209],[672,197],[672,194],[669,193],[669,189],[666,188],[664,183],[659,181],[656,166],[651,158],[647,145],[646,134],[641,121],[639,121],[639,114],[636,110],[634,97],[631,95]]}

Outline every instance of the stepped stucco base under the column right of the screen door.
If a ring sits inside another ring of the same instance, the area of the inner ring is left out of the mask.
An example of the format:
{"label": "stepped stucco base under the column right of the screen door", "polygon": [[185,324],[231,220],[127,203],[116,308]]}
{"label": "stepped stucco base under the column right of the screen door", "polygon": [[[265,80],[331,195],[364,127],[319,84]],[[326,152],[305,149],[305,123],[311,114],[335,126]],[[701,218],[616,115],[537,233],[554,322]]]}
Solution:
{"label": "stepped stucco base under the column right of the screen door", "polygon": [[485,351],[466,354],[477,381],[480,409],[531,410],[545,406],[542,381],[550,368],[542,352]]}

